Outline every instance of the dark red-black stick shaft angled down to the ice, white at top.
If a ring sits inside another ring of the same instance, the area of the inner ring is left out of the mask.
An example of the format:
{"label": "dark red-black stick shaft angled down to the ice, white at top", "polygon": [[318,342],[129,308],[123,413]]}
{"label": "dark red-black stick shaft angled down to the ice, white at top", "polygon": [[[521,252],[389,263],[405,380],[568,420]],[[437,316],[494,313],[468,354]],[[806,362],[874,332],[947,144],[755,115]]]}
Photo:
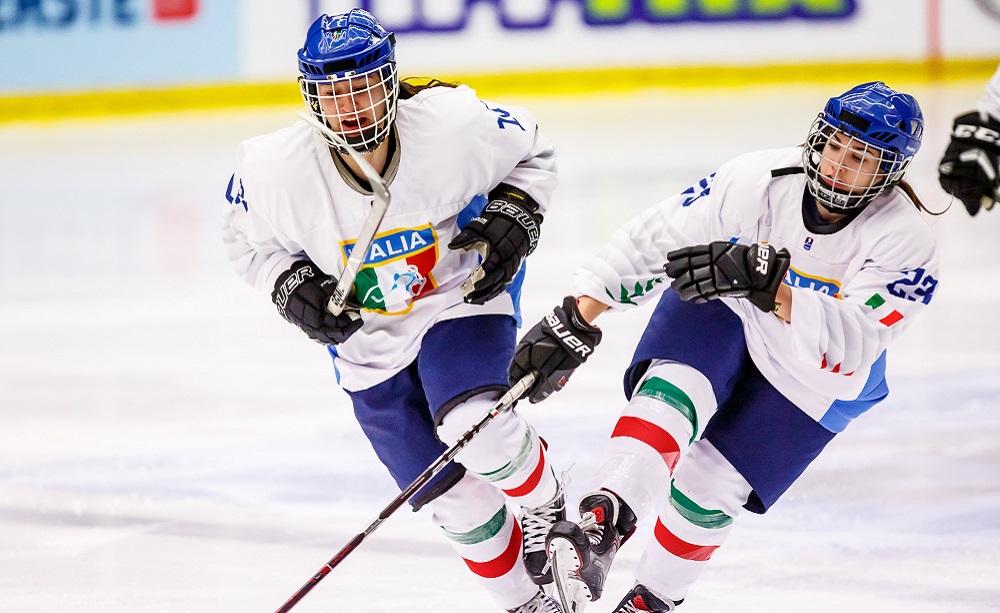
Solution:
{"label": "dark red-black stick shaft angled down to the ice, white at top", "polygon": [[300,587],[297,592],[292,594],[292,597],[289,598],[288,601],[276,611],[276,613],[288,613],[288,611],[291,611],[292,607],[294,607],[306,594],[316,587],[317,583],[323,580],[323,577],[330,574],[330,571],[343,562],[344,558],[357,549],[358,545],[361,544],[361,541],[365,540],[365,537],[372,532],[375,532],[375,530],[382,525],[382,522],[388,519],[389,516],[396,511],[396,509],[403,506],[404,502],[416,494],[420,488],[427,485],[427,482],[430,481],[434,475],[441,472],[441,469],[444,468],[448,462],[454,459],[454,457],[458,455],[459,451],[465,449],[466,445],[468,445],[483,428],[493,421],[494,417],[509,409],[518,398],[528,391],[528,388],[530,388],[534,382],[534,373],[528,373],[523,379],[511,386],[511,388],[507,390],[507,392],[501,396],[499,400],[497,400],[496,404],[493,405],[493,408],[490,409],[489,413],[473,424],[472,427],[462,435],[462,438],[458,439],[454,445],[442,453],[438,459],[434,460],[434,463],[428,466],[424,472],[420,473],[420,476],[414,479],[413,483],[411,483],[405,490],[400,492],[399,496],[393,498],[392,502],[390,502],[386,508],[382,509],[382,512],[379,513],[375,521],[368,524],[368,527],[355,535],[349,543],[344,545],[343,549],[337,552],[337,555],[330,558],[330,561],[327,562],[323,568],[319,569],[319,572],[313,575],[312,579],[307,581],[306,584]]}

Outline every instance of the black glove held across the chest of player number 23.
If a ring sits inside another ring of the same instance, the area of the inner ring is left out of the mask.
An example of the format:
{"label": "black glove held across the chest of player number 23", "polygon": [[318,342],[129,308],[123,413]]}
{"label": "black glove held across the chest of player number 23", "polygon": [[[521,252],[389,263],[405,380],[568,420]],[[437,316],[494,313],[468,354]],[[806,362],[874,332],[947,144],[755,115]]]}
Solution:
{"label": "black glove held across the chest of player number 23", "polygon": [[791,261],[787,249],[715,241],[671,251],[663,270],[674,278],[670,287],[682,300],[746,298],[758,309],[770,312]]}

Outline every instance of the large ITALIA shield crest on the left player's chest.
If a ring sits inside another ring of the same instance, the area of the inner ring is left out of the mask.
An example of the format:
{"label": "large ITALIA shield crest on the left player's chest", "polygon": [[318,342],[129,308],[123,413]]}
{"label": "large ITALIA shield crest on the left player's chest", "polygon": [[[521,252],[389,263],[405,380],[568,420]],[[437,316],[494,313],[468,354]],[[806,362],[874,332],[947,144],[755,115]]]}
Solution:
{"label": "large ITALIA shield crest on the left player's chest", "polygon": [[[344,262],[351,257],[354,244],[353,240],[340,244]],[[407,313],[414,300],[437,287],[431,276],[437,256],[437,234],[429,224],[379,234],[354,282],[355,297],[369,311]]]}

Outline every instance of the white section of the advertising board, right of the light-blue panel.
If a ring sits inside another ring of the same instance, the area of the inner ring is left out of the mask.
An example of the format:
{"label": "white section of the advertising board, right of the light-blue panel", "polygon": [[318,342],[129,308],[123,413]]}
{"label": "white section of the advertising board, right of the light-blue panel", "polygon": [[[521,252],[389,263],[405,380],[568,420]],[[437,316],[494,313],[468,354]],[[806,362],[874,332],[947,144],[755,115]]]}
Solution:
{"label": "white section of the advertising board, right of the light-blue panel", "polygon": [[[293,74],[295,59],[289,50],[302,46],[302,23],[308,22],[309,11],[338,13],[360,4],[319,0],[286,6],[252,0],[244,39],[246,76],[277,79]],[[638,11],[643,2],[624,4]],[[785,12],[812,10],[808,19],[747,15],[751,11],[746,7],[757,4],[753,2],[732,2],[733,17],[723,12],[715,19],[704,16],[706,9],[697,0],[663,4],[687,7],[686,16],[659,22],[637,17],[620,25],[594,26],[587,23],[583,0],[373,0],[367,6],[387,29],[404,30],[397,37],[404,75],[919,61],[935,52],[942,58],[1000,61],[1000,3],[995,0],[769,3]],[[549,9],[552,14],[544,27],[525,25],[542,22]],[[829,18],[820,18],[824,9]],[[301,17],[293,17],[296,11]],[[835,16],[845,11],[844,17]],[[505,28],[505,19],[520,27]],[[462,29],[444,31],[459,23]],[[425,31],[414,30],[420,27]]]}

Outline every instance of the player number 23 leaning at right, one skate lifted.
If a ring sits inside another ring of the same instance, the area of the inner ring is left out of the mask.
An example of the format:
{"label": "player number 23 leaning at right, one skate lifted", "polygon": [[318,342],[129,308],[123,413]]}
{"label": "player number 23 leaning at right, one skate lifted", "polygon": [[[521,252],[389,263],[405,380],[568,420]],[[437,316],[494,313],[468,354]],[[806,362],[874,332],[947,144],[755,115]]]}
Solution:
{"label": "player number 23 leaning at right, one skate lifted", "polygon": [[598,314],[661,294],[598,489],[548,536],[557,583],[580,602],[601,597],[619,547],[655,514],[615,612],[674,610],[740,513],[767,511],[886,397],[886,349],[938,282],[903,179],[923,127],[917,101],[882,82],[831,98],[804,146],[736,157],[615,232],[524,335],[510,375],[538,373],[539,402],[600,342]]}

